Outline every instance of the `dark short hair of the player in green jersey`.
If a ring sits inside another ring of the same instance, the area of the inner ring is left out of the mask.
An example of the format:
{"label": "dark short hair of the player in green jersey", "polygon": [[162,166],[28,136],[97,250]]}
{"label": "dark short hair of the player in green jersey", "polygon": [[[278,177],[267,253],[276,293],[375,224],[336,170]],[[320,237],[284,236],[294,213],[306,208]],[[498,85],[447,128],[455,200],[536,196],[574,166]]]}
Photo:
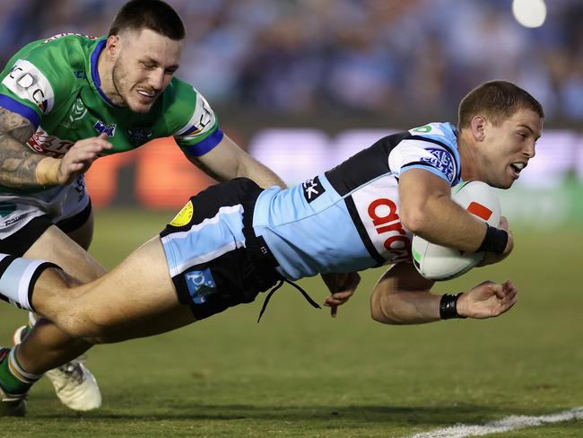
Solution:
{"label": "dark short hair of the player in green jersey", "polygon": [[131,0],[124,4],[111,23],[108,37],[122,31],[150,29],[176,41],[186,32],[178,13],[161,0]]}

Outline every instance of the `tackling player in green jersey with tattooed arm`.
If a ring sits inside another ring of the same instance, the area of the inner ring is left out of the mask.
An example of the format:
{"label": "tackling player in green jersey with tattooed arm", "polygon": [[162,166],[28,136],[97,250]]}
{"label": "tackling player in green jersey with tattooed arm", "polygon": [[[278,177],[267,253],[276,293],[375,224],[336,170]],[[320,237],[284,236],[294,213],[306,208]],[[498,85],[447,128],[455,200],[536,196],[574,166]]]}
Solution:
{"label": "tackling player in green jersey with tattooed arm", "polygon": [[[245,176],[262,187],[283,186],[223,134],[204,97],[175,77],[184,38],[170,5],[133,0],[107,37],[60,34],[13,56],[0,74],[1,252],[46,258],[82,283],[105,274],[85,252],[93,219],[83,173],[101,155],[156,137],[173,136],[218,180]],[[72,361],[48,372],[57,395],[74,409],[99,407],[99,387],[74,360],[91,345],[47,321],[26,337],[24,331],[15,340],[22,340],[16,351],[28,381]],[[14,372],[0,362],[0,381]]]}

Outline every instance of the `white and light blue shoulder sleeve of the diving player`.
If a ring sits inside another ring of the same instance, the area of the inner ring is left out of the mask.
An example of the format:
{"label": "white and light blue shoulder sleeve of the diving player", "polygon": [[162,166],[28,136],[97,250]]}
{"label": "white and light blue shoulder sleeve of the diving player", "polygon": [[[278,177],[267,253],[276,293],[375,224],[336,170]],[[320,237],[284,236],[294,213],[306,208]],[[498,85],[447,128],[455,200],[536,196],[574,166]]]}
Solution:
{"label": "white and light blue shoulder sleeve of the diving player", "polygon": [[422,137],[403,140],[389,154],[388,165],[397,178],[410,169],[422,169],[448,184],[457,180],[458,165],[453,150]]}

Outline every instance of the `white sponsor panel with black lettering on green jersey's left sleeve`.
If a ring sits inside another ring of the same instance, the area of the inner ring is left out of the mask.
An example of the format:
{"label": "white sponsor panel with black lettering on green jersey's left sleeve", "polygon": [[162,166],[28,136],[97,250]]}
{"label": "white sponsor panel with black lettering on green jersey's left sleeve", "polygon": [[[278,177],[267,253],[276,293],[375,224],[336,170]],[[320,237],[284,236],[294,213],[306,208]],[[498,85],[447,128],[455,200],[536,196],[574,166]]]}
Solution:
{"label": "white sponsor panel with black lettering on green jersey's left sleeve", "polygon": [[38,105],[42,112],[48,113],[53,109],[53,87],[48,83],[47,76],[26,59],[16,61],[2,83],[22,100]]}

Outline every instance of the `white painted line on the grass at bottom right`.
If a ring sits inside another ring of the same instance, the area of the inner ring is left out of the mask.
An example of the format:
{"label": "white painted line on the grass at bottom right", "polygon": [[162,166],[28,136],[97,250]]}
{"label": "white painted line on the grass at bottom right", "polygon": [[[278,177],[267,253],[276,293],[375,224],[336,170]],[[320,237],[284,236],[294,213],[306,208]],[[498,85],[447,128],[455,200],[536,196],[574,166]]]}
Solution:
{"label": "white painted line on the grass at bottom right", "polygon": [[492,421],[485,425],[454,425],[443,429],[411,435],[410,438],[465,438],[466,436],[481,436],[486,434],[500,434],[524,427],[549,425],[562,421],[583,419],[583,406],[573,407],[570,410],[557,412],[548,416],[507,416],[501,420]]}

